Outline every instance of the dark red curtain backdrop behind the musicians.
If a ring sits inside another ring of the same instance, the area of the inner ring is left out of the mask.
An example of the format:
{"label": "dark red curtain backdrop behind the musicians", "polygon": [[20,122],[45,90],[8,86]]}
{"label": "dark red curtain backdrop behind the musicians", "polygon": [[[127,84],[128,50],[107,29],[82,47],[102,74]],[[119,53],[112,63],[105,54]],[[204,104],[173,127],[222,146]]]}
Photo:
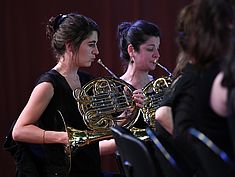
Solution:
{"label": "dark red curtain backdrop behind the musicians", "polygon": [[[190,0],[2,0],[0,5],[0,176],[13,177],[15,165],[2,149],[14,119],[25,106],[37,77],[51,69],[56,60],[51,54],[45,26],[51,16],[78,12],[100,26],[99,58],[120,76],[123,71],[116,41],[117,25],[123,21],[145,19],[161,29],[160,62],[170,71],[175,66],[176,17]],[[95,76],[109,75],[99,64],[86,69]],[[166,74],[161,68],[155,77]],[[112,168],[109,157],[104,169]],[[111,159],[111,158],[110,158]]]}

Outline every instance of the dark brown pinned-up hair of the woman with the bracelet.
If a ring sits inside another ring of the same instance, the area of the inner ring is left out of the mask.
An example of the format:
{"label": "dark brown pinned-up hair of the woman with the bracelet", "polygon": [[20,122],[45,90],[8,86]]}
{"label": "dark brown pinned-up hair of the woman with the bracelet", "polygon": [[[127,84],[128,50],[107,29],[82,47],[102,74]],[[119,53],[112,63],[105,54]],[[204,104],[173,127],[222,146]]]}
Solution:
{"label": "dark brown pinned-up hair of the woman with the bracelet", "polygon": [[95,21],[80,14],[70,13],[51,17],[47,24],[46,35],[51,40],[51,47],[58,58],[64,54],[65,44],[70,42],[76,51],[92,31],[97,31],[99,35]]}

